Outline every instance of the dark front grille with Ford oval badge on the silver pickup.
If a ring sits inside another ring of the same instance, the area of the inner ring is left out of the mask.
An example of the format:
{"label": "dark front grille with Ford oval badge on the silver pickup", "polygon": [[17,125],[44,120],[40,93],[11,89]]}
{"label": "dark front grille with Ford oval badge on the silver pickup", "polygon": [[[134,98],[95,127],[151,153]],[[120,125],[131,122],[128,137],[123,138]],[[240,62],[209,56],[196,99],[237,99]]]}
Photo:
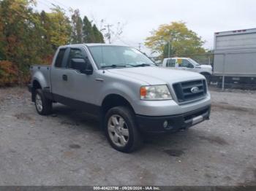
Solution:
{"label": "dark front grille with Ford oval badge on the silver pickup", "polygon": [[[192,88],[197,89],[194,93]],[[206,95],[206,80],[194,80],[189,82],[178,82],[173,84],[173,89],[178,98],[178,102],[192,101],[197,98],[202,98]]]}

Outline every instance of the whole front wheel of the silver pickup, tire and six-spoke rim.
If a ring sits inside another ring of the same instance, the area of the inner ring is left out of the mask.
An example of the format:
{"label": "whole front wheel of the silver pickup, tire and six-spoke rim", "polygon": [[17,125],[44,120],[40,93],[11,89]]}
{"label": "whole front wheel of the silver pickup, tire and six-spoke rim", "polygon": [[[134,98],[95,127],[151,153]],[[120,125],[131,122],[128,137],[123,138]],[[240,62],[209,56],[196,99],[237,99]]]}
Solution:
{"label": "whole front wheel of the silver pickup, tire and six-spoke rim", "polygon": [[116,106],[105,116],[105,133],[110,145],[120,152],[132,152],[142,142],[134,114],[124,106]]}

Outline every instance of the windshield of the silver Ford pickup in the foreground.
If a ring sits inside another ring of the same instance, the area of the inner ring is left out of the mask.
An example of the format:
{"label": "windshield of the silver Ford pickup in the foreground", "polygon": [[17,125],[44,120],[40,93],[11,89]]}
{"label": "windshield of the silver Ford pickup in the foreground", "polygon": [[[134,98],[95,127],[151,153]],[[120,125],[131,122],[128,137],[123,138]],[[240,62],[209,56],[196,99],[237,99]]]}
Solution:
{"label": "windshield of the silver Ford pickup in the foreground", "polygon": [[89,50],[101,69],[154,65],[146,55],[132,47],[92,46]]}

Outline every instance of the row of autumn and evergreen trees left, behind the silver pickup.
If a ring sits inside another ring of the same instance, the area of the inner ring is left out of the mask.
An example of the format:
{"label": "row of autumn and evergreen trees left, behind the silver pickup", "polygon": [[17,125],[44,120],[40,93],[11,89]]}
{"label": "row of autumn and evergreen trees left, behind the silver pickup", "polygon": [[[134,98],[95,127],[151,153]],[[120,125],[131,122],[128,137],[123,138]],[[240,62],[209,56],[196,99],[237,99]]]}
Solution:
{"label": "row of autumn and evergreen trees left, behind the silver pickup", "polygon": [[23,84],[29,66],[50,64],[57,47],[69,43],[104,42],[97,27],[79,10],[69,19],[64,9],[36,12],[35,0],[0,0],[0,83]]}

